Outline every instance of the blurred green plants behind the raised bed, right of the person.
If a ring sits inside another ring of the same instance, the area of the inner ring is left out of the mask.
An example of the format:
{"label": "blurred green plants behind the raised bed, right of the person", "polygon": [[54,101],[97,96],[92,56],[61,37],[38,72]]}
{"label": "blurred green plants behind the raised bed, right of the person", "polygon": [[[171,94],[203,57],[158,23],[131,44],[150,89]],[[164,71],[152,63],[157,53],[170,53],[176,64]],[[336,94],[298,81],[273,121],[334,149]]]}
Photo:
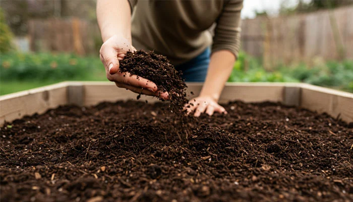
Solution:
{"label": "blurred green plants behind the raised bed, right of the person", "polygon": [[266,72],[259,60],[241,52],[228,81],[305,82],[353,92],[353,61],[329,61],[313,67],[280,66]]}

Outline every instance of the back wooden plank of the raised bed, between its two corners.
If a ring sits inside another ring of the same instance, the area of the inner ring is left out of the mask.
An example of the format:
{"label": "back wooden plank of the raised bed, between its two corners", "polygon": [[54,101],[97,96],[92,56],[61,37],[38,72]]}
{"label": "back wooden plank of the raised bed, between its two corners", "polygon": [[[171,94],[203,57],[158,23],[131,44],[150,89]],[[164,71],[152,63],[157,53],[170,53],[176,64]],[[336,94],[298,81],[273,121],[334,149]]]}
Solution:
{"label": "back wooden plank of the raised bed, between its two corners", "polygon": [[[117,100],[136,100],[137,93],[126,89],[117,88],[112,82],[82,82],[85,91],[84,105],[91,106],[100,102],[116,102]],[[187,83],[188,95],[194,92],[190,98],[199,95],[202,83]],[[282,102],[285,86],[298,87],[298,83],[227,83],[220,96],[220,103],[230,100],[243,100],[244,102]],[[158,99],[150,96],[141,96],[141,100],[157,102]]]}

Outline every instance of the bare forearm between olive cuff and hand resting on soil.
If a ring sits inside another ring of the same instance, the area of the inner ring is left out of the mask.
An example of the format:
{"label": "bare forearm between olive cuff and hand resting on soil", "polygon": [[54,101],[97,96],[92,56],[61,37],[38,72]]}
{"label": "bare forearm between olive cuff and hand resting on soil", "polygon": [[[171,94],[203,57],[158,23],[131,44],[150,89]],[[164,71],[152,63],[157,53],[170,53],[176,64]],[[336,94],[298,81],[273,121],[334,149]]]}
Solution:
{"label": "bare forearm between olive cuff and hand resting on soil", "polygon": [[221,50],[213,53],[200,96],[210,96],[218,102],[235,61],[236,57],[230,51]]}

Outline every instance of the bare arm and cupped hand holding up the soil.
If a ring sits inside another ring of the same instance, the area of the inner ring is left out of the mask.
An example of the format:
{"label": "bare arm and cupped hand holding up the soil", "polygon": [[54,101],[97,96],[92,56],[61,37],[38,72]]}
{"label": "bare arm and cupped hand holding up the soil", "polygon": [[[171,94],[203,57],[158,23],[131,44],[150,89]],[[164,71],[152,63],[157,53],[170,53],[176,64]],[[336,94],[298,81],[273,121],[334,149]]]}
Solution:
{"label": "bare arm and cupped hand holding up the soil", "polygon": [[106,77],[115,82],[117,87],[126,88],[136,93],[159,96],[168,99],[168,93],[157,91],[155,83],[136,75],[125,76],[127,72],[119,72],[119,61],[126,53],[136,51],[131,42],[131,7],[136,2],[130,0],[98,0],[97,20],[103,39],[99,57],[102,61]]}

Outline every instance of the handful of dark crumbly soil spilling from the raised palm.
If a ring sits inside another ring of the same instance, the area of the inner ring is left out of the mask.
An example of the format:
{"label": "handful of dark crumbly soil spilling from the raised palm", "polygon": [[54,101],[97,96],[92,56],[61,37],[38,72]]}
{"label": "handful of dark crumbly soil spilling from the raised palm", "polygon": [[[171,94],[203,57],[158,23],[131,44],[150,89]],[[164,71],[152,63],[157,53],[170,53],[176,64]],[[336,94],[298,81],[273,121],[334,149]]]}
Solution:
{"label": "handful of dark crumbly soil spilling from the raised palm", "polygon": [[120,62],[120,72],[129,72],[154,82],[159,91],[169,93],[172,105],[184,106],[188,102],[182,73],[175,70],[166,57],[153,51],[128,52]]}

